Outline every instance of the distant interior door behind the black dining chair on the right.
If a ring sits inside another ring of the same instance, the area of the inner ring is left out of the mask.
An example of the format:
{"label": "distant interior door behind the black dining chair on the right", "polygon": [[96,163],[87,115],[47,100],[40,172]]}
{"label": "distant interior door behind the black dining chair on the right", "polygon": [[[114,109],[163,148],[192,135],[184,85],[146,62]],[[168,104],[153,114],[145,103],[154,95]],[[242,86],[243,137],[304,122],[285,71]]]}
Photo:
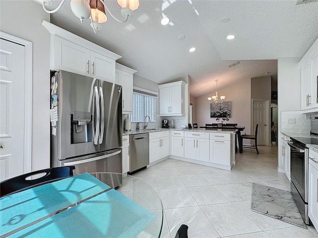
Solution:
{"label": "distant interior door behind the black dining chair on the right", "polygon": [[269,144],[269,101],[267,100],[253,100],[253,124],[251,134],[255,133],[256,124],[258,124],[257,131],[257,145]]}

